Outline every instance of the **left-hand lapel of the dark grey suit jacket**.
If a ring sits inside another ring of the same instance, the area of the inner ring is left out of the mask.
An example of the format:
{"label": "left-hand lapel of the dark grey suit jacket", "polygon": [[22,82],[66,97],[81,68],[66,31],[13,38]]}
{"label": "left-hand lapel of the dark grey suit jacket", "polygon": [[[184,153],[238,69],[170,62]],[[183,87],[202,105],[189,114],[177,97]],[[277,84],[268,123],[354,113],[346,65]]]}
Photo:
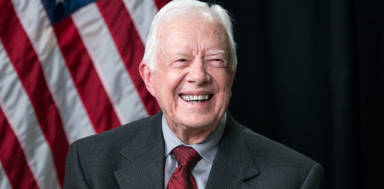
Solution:
{"label": "left-hand lapel of the dark grey suit jacket", "polygon": [[164,175],[164,139],[161,116],[144,123],[136,139],[120,151],[120,169],[114,172],[121,188],[162,188]]}

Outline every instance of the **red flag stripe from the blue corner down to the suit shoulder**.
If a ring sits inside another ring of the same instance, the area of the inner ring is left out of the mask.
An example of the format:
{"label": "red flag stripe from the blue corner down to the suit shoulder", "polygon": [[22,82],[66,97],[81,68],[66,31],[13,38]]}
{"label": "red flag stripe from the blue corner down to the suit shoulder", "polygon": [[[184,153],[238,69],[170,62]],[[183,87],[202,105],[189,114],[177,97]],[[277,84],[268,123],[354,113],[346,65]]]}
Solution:
{"label": "red flag stripe from the blue corner down to the suit shoulder", "polygon": [[65,18],[53,28],[95,130],[100,133],[120,126],[121,123],[72,18]]}

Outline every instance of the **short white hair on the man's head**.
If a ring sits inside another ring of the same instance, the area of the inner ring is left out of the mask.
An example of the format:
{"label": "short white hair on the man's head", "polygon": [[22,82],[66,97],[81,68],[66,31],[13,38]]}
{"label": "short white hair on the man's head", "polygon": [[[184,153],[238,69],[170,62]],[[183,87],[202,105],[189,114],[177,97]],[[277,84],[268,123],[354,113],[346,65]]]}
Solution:
{"label": "short white hair on the man's head", "polygon": [[228,41],[227,59],[229,60],[226,61],[228,61],[228,63],[232,66],[232,71],[235,70],[237,66],[236,43],[233,40],[232,19],[228,11],[220,5],[210,5],[197,0],[172,0],[161,8],[161,10],[153,18],[151,29],[149,30],[147,38],[144,57],[142,59],[143,62],[146,62],[149,70],[156,70],[155,62],[160,48],[157,30],[159,30],[161,26],[164,26],[176,19],[193,19],[196,17],[202,19],[212,18],[214,22],[222,25]]}

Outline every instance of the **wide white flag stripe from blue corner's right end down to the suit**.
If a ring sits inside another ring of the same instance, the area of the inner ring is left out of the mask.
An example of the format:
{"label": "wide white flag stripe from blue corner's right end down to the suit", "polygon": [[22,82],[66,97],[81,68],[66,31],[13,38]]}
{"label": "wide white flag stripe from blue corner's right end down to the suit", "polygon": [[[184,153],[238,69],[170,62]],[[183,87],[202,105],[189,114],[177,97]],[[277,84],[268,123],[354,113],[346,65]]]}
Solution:
{"label": "wide white flag stripe from blue corner's right end down to the suit", "polygon": [[72,19],[120,122],[148,116],[97,5],[81,8]]}

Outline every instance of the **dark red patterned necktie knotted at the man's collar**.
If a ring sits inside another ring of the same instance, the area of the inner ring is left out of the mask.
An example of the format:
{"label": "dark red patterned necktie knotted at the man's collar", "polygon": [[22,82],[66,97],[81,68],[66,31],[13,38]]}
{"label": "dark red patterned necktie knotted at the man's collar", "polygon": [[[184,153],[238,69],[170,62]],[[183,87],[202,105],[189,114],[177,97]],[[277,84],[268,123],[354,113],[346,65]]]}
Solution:
{"label": "dark red patterned necktie knotted at the man's collar", "polygon": [[189,146],[177,146],[172,153],[178,166],[170,176],[167,189],[197,189],[190,167],[201,159],[200,154]]}

